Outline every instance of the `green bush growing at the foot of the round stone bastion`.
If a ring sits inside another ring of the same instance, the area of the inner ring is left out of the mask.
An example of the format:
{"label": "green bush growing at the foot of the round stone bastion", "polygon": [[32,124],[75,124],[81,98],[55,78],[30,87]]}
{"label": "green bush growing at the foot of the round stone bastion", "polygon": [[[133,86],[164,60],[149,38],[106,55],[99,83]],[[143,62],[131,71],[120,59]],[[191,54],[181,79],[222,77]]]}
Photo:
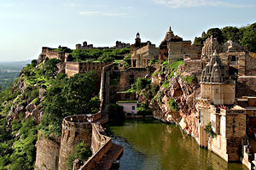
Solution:
{"label": "green bush growing at the foot of the round stone bastion", "polygon": [[81,161],[86,161],[91,156],[90,144],[80,143],[75,146],[73,153],[67,156],[67,167],[68,170],[73,169],[73,161],[79,159]]}

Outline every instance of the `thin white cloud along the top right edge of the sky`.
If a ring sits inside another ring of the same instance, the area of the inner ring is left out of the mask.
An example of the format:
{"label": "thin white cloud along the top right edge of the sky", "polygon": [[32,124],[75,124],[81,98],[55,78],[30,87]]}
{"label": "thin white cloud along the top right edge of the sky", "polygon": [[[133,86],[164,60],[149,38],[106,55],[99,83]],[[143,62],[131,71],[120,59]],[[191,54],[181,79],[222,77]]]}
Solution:
{"label": "thin white cloud along the top right edge of the sky", "polygon": [[243,5],[225,3],[224,1],[213,0],[152,0],[154,3],[166,5],[171,8],[188,8],[188,7],[228,7],[228,8],[247,8],[256,7],[256,5]]}

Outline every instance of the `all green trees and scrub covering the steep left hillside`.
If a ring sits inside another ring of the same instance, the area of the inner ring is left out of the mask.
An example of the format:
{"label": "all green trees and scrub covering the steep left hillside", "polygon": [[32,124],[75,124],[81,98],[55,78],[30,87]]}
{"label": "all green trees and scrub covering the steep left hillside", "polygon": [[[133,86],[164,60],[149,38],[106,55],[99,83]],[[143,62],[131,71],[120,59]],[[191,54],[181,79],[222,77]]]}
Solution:
{"label": "all green trees and scrub covering the steep left hillside", "polygon": [[[65,74],[56,73],[58,62],[58,59],[46,59],[36,65],[36,60],[33,60],[9,88],[1,91],[0,169],[33,169],[39,129],[46,135],[55,133],[60,136],[64,116],[98,111],[96,72],[68,79]],[[45,91],[44,98],[39,98],[39,89]],[[11,126],[7,126],[6,116],[12,114],[11,107],[24,108],[30,103],[44,111],[41,123],[25,118],[25,112],[20,111],[10,122]]]}

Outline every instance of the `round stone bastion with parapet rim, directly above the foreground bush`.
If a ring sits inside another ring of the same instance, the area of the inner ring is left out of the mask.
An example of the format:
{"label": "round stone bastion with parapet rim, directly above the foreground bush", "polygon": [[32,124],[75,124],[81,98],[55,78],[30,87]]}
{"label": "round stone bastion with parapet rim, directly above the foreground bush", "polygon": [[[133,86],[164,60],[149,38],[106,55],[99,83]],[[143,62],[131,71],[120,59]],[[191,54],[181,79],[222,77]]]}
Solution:
{"label": "round stone bastion with parapet rim, directly above the foreground bush", "polygon": [[69,156],[76,144],[81,142],[91,143],[90,117],[85,115],[67,116],[62,122],[61,149],[59,158],[59,170],[66,170],[67,156]]}

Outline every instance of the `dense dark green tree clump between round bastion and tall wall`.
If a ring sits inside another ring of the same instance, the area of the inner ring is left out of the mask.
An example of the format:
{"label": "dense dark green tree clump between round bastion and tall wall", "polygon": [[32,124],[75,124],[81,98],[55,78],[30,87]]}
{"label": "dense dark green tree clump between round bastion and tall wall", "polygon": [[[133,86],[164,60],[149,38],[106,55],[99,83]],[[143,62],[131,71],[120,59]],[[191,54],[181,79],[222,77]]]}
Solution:
{"label": "dense dark green tree clump between round bastion and tall wall", "polygon": [[44,116],[40,128],[45,134],[61,136],[61,122],[65,116],[96,113],[100,106],[95,97],[96,72],[63,78],[64,75],[59,75],[44,94]]}

